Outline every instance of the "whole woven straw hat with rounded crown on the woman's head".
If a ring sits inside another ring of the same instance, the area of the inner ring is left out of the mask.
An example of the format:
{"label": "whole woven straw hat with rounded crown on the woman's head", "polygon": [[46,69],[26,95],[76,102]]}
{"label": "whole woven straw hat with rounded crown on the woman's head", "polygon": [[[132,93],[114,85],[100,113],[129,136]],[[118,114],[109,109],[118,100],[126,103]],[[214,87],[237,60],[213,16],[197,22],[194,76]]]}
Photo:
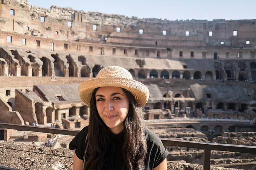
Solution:
{"label": "whole woven straw hat with rounded crown on the woman's head", "polygon": [[147,86],[133,79],[133,76],[123,67],[109,66],[101,69],[94,79],[82,82],[78,87],[81,100],[90,105],[91,95],[95,88],[114,86],[130,91],[139,107],[143,107],[149,97]]}

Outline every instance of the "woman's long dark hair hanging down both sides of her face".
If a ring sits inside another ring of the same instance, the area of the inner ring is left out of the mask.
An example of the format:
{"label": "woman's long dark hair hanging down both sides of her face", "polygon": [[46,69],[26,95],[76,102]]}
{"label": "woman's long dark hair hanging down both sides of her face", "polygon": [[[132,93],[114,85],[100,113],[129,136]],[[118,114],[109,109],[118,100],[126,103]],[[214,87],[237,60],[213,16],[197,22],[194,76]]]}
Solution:
{"label": "woman's long dark hair hanging down both sides of her face", "polygon": [[[95,94],[98,88],[94,89],[90,101],[90,118],[87,134],[87,151],[84,156],[84,170],[103,170],[108,163],[108,127],[102,121],[96,108]],[[147,144],[142,125],[142,110],[137,105],[133,94],[123,89],[129,100],[129,111],[123,121],[125,139],[123,144],[124,169],[142,170],[145,169],[145,157]]]}

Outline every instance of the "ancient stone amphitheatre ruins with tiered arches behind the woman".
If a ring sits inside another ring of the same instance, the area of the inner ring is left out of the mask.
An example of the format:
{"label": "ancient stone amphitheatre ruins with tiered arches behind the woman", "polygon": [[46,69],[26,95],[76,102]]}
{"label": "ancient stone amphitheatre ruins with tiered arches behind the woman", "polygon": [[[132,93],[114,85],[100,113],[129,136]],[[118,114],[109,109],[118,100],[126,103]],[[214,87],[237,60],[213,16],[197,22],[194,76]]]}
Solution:
{"label": "ancient stone amphitheatre ruins with tiered arches behind the woman", "polygon": [[[158,136],[256,146],[256,19],[129,18],[28,0],[0,9],[0,122],[80,130],[90,115],[79,83],[116,65],[148,86],[144,124]],[[51,137],[0,129],[8,142]],[[72,138],[55,143],[67,148]],[[8,142],[0,146],[17,145]],[[166,148],[169,169],[202,164],[200,149]],[[256,154],[214,151],[211,166],[255,170]]]}

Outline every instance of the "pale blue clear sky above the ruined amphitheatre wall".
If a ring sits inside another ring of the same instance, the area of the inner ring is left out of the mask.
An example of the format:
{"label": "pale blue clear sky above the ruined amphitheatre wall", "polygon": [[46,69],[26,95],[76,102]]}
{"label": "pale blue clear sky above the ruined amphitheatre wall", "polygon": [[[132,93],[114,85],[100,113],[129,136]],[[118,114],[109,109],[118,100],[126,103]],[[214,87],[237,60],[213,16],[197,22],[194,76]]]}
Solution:
{"label": "pale blue clear sky above the ruined amphitheatre wall", "polygon": [[28,0],[34,6],[72,7],[138,18],[256,19],[256,0]]}

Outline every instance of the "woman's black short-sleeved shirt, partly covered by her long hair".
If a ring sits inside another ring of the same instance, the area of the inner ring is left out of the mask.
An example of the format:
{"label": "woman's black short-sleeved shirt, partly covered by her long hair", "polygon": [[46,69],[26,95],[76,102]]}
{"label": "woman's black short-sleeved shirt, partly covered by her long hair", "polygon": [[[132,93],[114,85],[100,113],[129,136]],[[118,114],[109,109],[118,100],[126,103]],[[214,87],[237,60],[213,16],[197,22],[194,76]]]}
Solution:
{"label": "woman's black short-sleeved shirt, partly covered by her long hair", "polygon": [[[160,163],[168,155],[167,149],[163,146],[162,141],[160,138],[153,133],[148,128],[144,128],[145,137],[147,140],[147,155],[145,159],[145,167],[146,170],[152,170],[153,168],[157,167]],[[74,150],[76,149],[76,156],[83,160],[84,151],[85,151],[85,138],[88,133],[88,126],[84,127],[69,143],[69,149]],[[123,140],[124,140],[124,132],[122,131],[119,134],[109,133],[110,137],[110,159],[111,160],[107,164],[108,170],[121,170],[123,169],[123,155],[122,155],[122,147],[123,147]]]}

